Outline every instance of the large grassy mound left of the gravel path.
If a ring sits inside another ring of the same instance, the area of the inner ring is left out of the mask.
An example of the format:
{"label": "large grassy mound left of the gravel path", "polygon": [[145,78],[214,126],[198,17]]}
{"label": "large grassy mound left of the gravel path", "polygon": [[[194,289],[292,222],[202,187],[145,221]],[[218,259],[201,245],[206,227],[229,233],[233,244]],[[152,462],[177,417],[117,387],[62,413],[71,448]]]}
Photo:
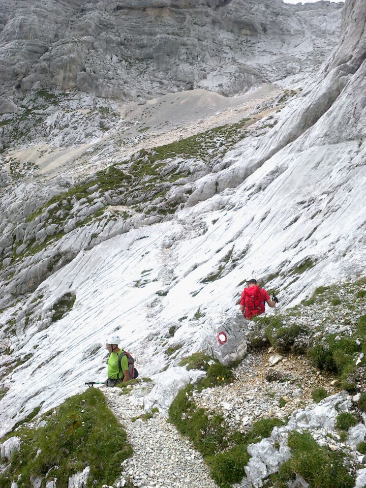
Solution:
{"label": "large grassy mound left of the gravel path", "polygon": [[69,477],[86,466],[87,487],[110,485],[120,474],[120,463],[132,455],[125,431],[96,388],[66,400],[44,427],[20,429],[16,435],[22,439],[20,451],[0,475],[2,486],[17,480],[19,488],[28,488],[31,477],[40,476],[46,481],[56,477],[58,488],[66,488]]}

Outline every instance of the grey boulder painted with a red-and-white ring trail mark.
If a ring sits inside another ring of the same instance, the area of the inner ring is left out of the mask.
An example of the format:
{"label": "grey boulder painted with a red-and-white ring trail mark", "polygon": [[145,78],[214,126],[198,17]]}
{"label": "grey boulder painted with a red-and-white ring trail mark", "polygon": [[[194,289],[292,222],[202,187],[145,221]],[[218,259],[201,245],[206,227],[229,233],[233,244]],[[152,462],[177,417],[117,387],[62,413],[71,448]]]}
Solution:
{"label": "grey boulder painted with a red-and-white ring trail mark", "polygon": [[241,314],[225,318],[216,315],[205,326],[203,348],[221,364],[230,364],[242,359],[247,353],[246,325]]}

